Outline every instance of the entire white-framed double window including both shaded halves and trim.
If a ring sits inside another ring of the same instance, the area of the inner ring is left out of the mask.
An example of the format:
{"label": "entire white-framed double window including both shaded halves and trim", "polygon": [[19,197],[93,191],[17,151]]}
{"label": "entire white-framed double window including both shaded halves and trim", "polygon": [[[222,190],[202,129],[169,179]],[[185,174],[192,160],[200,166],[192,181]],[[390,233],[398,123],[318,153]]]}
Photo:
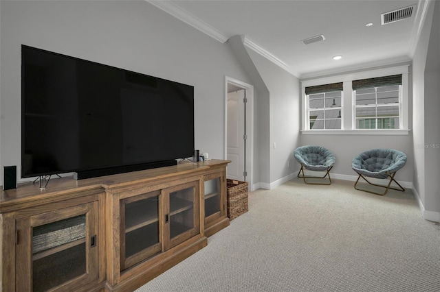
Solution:
{"label": "entire white-framed double window including both shaded halves and trim", "polygon": [[408,68],[301,81],[303,134],[408,134]]}

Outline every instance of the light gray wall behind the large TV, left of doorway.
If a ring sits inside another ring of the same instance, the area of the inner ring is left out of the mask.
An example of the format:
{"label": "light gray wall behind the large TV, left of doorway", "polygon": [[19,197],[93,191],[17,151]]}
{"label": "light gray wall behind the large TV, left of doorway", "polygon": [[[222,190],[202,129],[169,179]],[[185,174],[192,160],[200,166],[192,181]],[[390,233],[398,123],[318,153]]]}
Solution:
{"label": "light gray wall behind the large TV, left of doorway", "polygon": [[195,147],[224,158],[225,75],[251,83],[228,45],[145,1],[0,7],[1,180],[3,166],[21,165],[22,44],[195,86]]}

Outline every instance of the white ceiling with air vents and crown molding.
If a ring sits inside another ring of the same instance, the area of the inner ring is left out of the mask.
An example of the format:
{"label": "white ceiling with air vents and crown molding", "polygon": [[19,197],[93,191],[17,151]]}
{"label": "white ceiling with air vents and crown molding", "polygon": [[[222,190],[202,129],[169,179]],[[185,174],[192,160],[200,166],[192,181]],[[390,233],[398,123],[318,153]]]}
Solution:
{"label": "white ceiling with air vents and crown molding", "polygon": [[[421,0],[147,1],[219,42],[245,36],[250,49],[300,78],[410,61],[426,7]],[[381,25],[382,13],[410,5],[410,19]],[[325,40],[301,42],[320,34]]]}

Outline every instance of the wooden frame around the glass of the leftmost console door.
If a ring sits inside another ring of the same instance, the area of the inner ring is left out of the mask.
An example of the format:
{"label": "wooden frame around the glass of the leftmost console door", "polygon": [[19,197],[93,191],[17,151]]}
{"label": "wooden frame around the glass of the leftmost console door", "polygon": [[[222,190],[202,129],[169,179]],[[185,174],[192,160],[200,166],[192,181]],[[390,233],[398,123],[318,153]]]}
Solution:
{"label": "wooden frame around the glass of the leftmost console door", "polygon": [[[54,205],[54,207],[57,205]],[[29,217],[17,219],[16,228],[18,241],[16,289],[17,291],[32,291],[32,228],[47,223],[54,223],[63,219],[86,216],[85,234],[85,260],[86,271],[81,276],[67,280],[63,284],[53,287],[51,291],[74,290],[85,284],[97,280],[98,270],[98,201],[78,204],[61,209],[44,207],[45,212],[34,214]],[[93,243],[93,246],[91,246]]]}

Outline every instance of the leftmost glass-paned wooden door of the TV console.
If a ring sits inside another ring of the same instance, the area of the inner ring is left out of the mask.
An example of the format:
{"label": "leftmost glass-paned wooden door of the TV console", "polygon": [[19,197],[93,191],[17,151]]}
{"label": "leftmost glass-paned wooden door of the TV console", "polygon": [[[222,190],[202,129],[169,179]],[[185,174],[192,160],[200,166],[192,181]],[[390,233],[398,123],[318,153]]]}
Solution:
{"label": "leftmost glass-paned wooden door of the TV console", "polygon": [[98,278],[97,212],[91,202],[18,220],[17,291],[69,290]]}

